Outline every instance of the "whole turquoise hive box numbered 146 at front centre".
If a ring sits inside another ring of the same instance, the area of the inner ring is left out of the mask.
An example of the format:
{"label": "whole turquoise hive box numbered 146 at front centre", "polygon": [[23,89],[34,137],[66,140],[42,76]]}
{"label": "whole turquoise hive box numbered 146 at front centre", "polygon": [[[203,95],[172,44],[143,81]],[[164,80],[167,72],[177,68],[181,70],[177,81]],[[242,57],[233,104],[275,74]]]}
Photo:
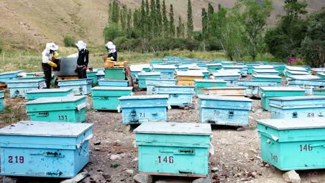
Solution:
{"label": "whole turquoise hive box numbered 146 at front centre", "polygon": [[135,132],[139,171],[150,175],[207,177],[209,124],[142,123]]}

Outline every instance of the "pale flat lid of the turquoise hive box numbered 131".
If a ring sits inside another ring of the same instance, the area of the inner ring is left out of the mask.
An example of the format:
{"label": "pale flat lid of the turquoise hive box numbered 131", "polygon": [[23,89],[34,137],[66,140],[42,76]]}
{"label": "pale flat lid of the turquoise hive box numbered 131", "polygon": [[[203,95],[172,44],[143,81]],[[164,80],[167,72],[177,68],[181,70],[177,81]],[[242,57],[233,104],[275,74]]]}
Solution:
{"label": "pale flat lid of the turquoise hive box numbered 131", "polygon": [[42,97],[29,101],[26,104],[41,104],[41,103],[69,103],[76,102],[85,98],[85,96],[56,96],[56,97]]}

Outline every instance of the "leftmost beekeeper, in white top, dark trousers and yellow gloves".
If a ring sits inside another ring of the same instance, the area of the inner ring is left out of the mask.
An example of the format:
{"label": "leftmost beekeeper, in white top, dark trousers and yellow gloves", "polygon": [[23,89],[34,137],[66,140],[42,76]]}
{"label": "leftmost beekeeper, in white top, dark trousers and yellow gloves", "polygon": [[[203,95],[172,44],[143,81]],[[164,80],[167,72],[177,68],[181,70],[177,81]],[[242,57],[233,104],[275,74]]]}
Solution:
{"label": "leftmost beekeeper, in white top, dark trousers and yellow gloves", "polygon": [[47,43],[44,51],[42,52],[42,69],[44,72],[47,88],[50,88],[51,85],[52,67],[58,67],[56,63],[52,62],[53,55],[58,55],[58,53],[56,53],[57,50],[58,46],[55,43],[51,42]]}

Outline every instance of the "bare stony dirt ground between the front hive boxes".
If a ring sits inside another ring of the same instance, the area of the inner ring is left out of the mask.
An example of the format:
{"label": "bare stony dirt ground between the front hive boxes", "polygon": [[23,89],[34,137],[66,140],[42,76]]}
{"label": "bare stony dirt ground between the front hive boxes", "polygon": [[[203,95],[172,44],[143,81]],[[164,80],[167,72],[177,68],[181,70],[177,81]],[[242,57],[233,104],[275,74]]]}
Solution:
{"label": "bare stony dirt ground between the front hive boxes", "polygon": [[[145,92],[135,92],[136,95]],[[8,98],[8,97],[7,97]],[[6,99],[10,105],[22,105],[23,99]],[[170,122],[199,122],[197,98],[194,107],[189,109],[172,109],[167,112]],[[14,103],[14,104],[12,104]],[[91,97],[88,103],[92,105]],[[20,108],[19,108],[20,109]],[[0,116],[3,114],[0,114]],[[22,115],[24,119],[26,116]],[[256,131],[256,119],[269,119],[269,112],[260,107],[260,101],[253,101],[253,110],[249,113],[249,127],[244,131],[236,128],[214,126],[212,144],[214,155],[210,156],[210,177],[213,182],[261,182],[281,183],[283,171],[260,158],[260,137]],[[87,111],[87,123],[94,123],[94,137],[90,140],[90,162],[84,170],[89,176],[82,182],[133,182],[138,172],[138,149],[134,146],[135,136],[130,126],[122,124],[122,113]],[[6,124],[8,125],[8,123]],[[2,123],[1,126],[4,126]],[[99,145],[94,145],[98,143]],[[119,155],[121,159],[110,159]],[[297,159],[299,161],[299,159]],[[325,171],[297,171],[302,182],[325,182]],[[156,182],[192,182],[191,178],[153,177]],[[21,182],[60,182],[57,179],[20,178]]]}

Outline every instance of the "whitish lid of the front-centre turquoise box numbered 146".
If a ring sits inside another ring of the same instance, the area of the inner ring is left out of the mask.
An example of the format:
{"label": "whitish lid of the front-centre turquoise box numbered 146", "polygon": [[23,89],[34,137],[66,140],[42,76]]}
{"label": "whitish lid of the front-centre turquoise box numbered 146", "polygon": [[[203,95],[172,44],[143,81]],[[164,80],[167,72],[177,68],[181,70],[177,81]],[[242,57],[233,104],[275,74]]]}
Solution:
{"label": "whitish lid of the front-centre turquoise box numbered 146", "polygon": [[145,122],[133,130],[134,133],[145,134],[188,134],[188,135],[210,135],[211,126],[207,123],[162,123]]}

